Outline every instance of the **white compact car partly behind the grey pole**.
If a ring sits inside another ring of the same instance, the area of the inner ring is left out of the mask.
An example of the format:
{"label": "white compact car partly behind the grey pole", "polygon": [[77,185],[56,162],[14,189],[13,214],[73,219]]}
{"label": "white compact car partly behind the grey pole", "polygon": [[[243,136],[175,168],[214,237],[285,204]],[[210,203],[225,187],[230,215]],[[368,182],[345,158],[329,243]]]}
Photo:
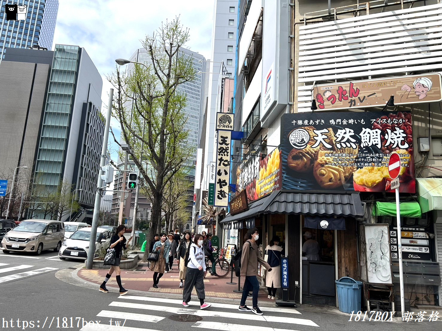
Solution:
{"label": "white compact car partly behind the grey pole", "polygon": [[[83,228],[76,230],[69,239],[63,241],[58,257],[60,260],[66,259],[88,259],[89,239],[91,238],[92,228]],[[95,237],[95,252],[103,245],[110,245],[110,231],[108,229],[98,228]]]}

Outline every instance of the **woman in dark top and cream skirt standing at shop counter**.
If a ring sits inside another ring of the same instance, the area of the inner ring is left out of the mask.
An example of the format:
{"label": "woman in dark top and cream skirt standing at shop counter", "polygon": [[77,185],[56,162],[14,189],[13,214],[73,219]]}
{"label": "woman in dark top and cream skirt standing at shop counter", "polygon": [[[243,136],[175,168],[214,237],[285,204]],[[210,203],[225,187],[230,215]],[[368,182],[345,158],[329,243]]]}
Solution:
{"label": "woman in dark top and cream skirt standing at shop counter", "polygon": [[266,248],[267,263],[272,267],[272,271],[267,271],[266,274],[266,286],[268,298],[272,300],[276,299],[276,290],[281,287],[281,252],[279,237],[274,236]]}

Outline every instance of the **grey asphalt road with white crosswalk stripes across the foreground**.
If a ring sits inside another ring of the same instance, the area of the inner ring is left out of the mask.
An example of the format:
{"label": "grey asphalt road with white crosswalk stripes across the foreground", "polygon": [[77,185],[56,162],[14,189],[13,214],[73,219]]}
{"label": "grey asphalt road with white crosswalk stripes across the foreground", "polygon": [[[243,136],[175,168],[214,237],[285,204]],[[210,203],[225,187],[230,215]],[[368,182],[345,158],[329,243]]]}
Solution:
{"label": "grey asphalt road with white crosswalk stripes across the foreground", "polygon": [[[264,315],[257,316],[251,312],[239,312],[237,304],[229,300],[213,299],[210,301],[212,307],[200,310],[197,301],[191,301],[191,307],[184,308],[180,296],[173,294],[146,295],[131,291],[120,297],[115,289],[110,289],[110,293],[101,293],[96,285],[73,277],[72,272],[75,274],[79,261],[61,261],[54,256],[54,252],[45,252],[41,256],[5,256],[0,252],[0,291],[3,299],[0,301],[0,330],[10,331],[12,327],[15,330],[81,331],[372,331],[373,327],[392,331],[442,329],[441,321],[404,323],[393,319],[393,322],[349,322],[347,314],[305,305],[296,309],[262,307]],[[12,276],[44,268],[54,269],[19,278]],[[10,276],[9,280],[2,282],[6,279],[2,277],[6,276]],[[114,276],[111,280],[114,280]],[[195,317],[198,321],[171,320],[173,315],[189,315],[188,318]]]}

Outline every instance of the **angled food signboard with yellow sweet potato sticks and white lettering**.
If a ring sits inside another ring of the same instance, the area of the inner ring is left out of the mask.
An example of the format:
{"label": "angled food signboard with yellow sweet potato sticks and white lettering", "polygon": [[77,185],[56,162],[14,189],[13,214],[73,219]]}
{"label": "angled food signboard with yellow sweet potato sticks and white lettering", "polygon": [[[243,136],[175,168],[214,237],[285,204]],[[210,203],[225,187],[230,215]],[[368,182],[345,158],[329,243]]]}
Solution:
{"label": "angled food signboard with yellow sweet potato sticks and white lettering", "polygon": [[236,169],[236,190],[245,190],[249,202],[280,190],[282,176],[279,148],[265,157],[257,151],[249,151],[247,154],[247,158]]}

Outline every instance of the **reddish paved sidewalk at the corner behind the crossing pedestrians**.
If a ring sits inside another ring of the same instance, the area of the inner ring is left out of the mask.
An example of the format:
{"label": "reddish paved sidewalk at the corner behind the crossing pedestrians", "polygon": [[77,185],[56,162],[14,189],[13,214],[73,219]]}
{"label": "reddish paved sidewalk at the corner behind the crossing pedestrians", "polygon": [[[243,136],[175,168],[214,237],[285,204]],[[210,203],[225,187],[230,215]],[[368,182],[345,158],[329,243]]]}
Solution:
{"label": "reddish paved sidewalk at the corner behind the crossing pedestrians", "polygon": [[[89,282],[93,282],[98,286],[103,282],[104,277],[107,274],[108,269],[80,269],[77,275]],[[158,288],[152,287],[153,285],[153,272],[149,270],[147,265],[140,263],[136,270],[122,270],[121,271],[121,282],[126,290],[139,290],[151,293],[183,293],[183,289],[179,288],[179,270],[174,261],[172,266],[172,271],[165,273],[163,277],[160,278],[158,283]],[[241,278],[244,281],[244,278]],[[241,293],[235,293],[233,290],[238,290],[238,285],[229,285],[226,282],[230,282],[229,277],[219,278],[207,274],[204,279],[204,287],[206,291],[206,297],[219,297],[219,298],[230,298],[230,299],[240,299]],[[233,277],[233,282],[238,283],[238,277]],[[118,289],[117,281],[115,279],[115,273],[107,282],[108,287],[115,287]],[[192,291],[192,295],[196,295],[195,289]],[[274,302],[274,300],[267,298],[267,290],[259,290],[259,301],[268,301],[269,303]]]}

